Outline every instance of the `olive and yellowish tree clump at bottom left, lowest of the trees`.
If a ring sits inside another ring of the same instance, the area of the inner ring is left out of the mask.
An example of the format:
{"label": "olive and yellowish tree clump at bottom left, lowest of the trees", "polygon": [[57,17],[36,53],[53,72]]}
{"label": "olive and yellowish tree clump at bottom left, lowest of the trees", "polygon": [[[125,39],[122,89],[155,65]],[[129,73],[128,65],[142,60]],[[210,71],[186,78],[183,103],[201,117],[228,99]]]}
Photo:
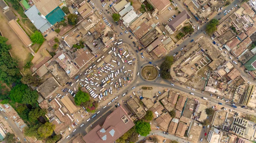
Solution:
{"label": "olive and yellowish tree clump at bottom left, lowest of the trees", "polygon": [[[38,123],[30,126],[29,128],[26,128],[24,134],[28,137],[36,137],[38,140],[44,140],[52,135],[54,129],[55,125],[53,125],[52,123]],[[54,138],[54,140],[56,140],[56,138]]]}

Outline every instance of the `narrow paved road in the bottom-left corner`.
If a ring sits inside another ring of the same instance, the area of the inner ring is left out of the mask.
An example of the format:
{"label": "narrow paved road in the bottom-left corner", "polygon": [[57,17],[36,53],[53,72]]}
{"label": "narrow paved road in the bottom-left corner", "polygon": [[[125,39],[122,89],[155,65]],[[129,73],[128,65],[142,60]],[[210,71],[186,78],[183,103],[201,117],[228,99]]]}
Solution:
{"label": "narrow paved road in the bottom-left corner", "polygon": [[[0,112],[0,116],[2,116],[2,117],[8,117],[3,111],[1,111]],[[7,122],[8,123],[8,125],[10,126],[10,128],[12,129],[12,131],[14,132],[14,134],[17,136],[17,137],[19,137],[20,138],[20,142],[21,143],[25,143],[24,142],[24,135],[23,135],[23,133],[20,131],[20,129],[16,126],[16,124],[14,123],[14,121],[10,118],[10,117],[8,117],[8,119],[6,120],[6,119],[4,119],[3,118],[3,122]]]}

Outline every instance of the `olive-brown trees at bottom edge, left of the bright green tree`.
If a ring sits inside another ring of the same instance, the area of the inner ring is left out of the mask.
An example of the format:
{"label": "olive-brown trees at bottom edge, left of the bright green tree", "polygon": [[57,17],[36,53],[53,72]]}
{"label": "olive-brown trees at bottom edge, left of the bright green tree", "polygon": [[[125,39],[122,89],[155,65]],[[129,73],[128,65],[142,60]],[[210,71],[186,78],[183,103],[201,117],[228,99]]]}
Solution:
{"label": "olive-brown trees at bottom edge, left of the bright green tree", "polygon": [[136,127],[133,126],[131,129],[129,129],[125,134],[123,134],[119,139],[116,140],[117,143],[136,143],[139,139],[138,133],[136,132]]}

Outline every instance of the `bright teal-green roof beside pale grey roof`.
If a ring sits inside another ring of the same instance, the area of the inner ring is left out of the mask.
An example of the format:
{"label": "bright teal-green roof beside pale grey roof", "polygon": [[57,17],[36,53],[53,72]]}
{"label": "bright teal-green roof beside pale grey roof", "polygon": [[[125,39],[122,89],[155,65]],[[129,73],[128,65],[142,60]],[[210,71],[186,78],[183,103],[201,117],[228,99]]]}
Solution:
{"label": "bright teal-green roof beside pale grey roof", "polygon": [[51,11],[49,14],[47,14],[46,19],[54,25],[57,22],[61,22],[61,20],[64,20],[65,13],[61,10],[60,7],[57,7],[53,11]]}

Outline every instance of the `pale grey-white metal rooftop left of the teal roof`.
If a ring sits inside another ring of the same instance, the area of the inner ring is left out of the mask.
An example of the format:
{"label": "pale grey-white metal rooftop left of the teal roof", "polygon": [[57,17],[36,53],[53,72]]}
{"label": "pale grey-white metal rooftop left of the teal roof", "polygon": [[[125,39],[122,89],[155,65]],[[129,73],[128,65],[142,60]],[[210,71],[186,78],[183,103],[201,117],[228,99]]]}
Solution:
{"label": "pale grey-white metal rooftop left of the teal roof", "polygon": [[44,17],[41,17],[38,14],[40,12],[35,5],[28,9],[27,11],[25,11],[24,13],[29,18],[29,20],[34,24],[34,26],[42,33],[47,31],[47,29],[51,27],[50,23]]}

